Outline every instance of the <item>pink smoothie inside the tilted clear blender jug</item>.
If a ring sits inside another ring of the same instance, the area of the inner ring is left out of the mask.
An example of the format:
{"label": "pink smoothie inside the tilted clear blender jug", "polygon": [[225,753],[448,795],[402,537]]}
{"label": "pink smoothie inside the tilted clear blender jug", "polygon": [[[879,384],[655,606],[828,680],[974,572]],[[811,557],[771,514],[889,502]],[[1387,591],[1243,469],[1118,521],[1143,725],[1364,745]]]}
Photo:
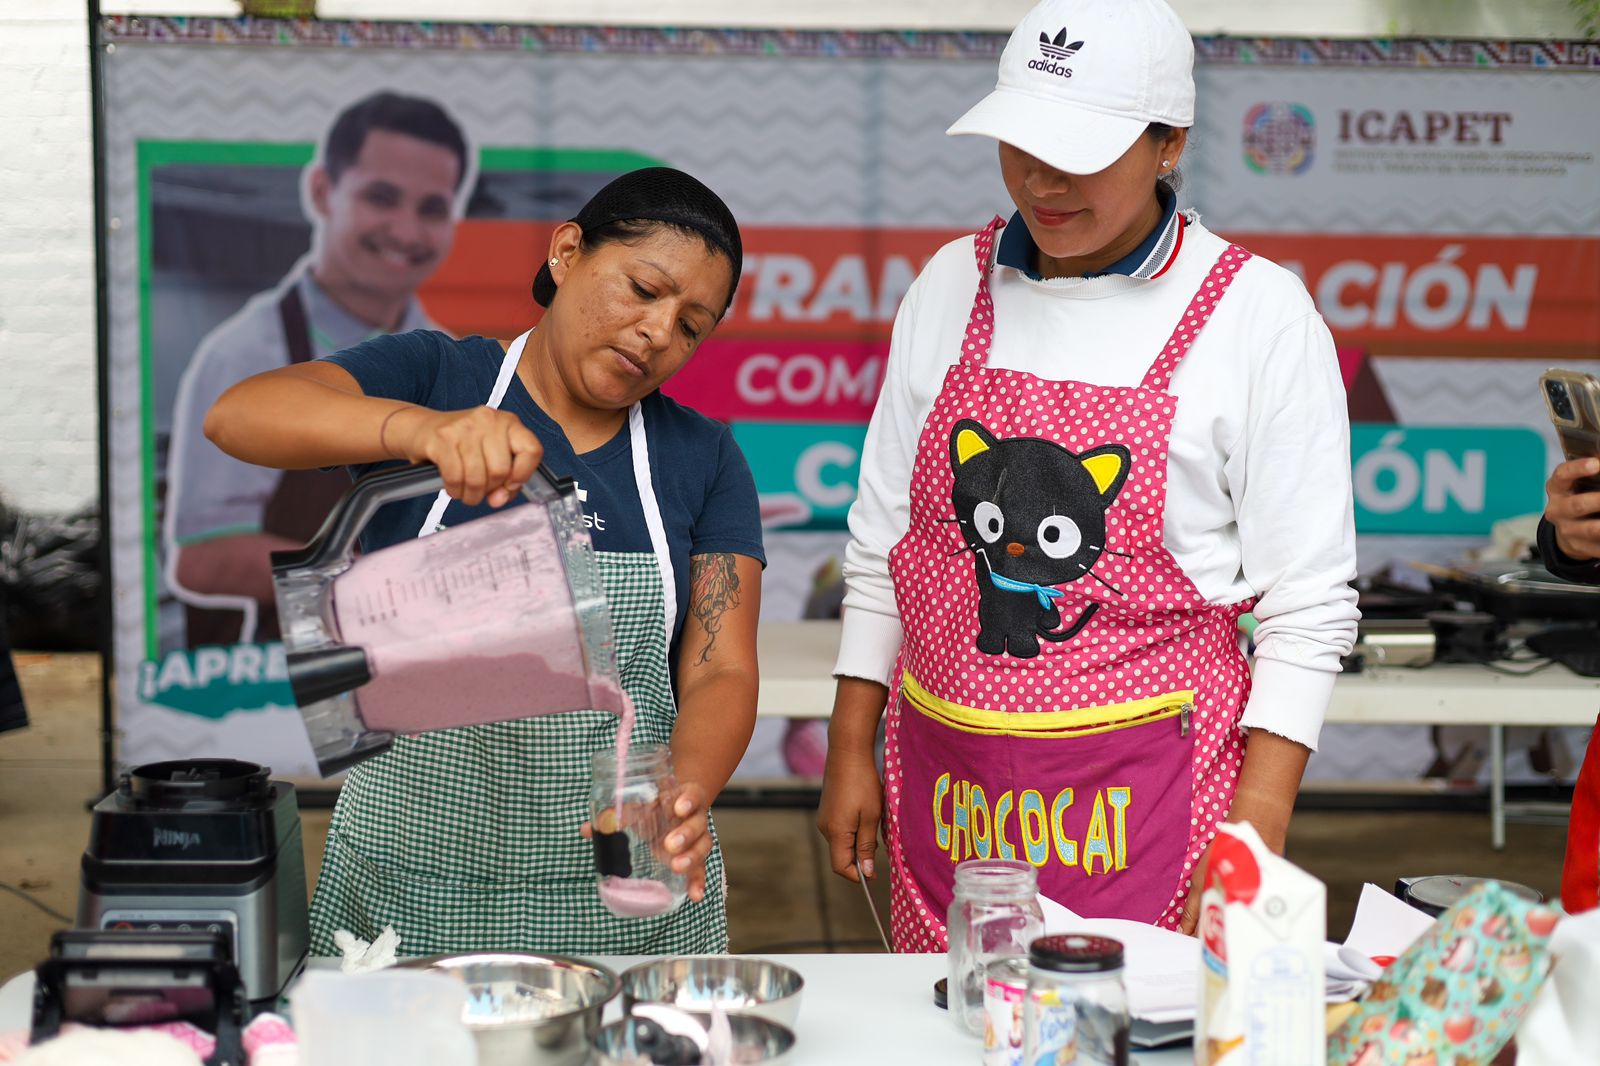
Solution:
{"label": "pink smoothie inside the tilted clear blender jug", "polygon": [[549,514],[523,506],[450,538],[357,560],[334,583],[346,643],[373,680],[355,693],[368,728],[395,733],[509,722],[555,711],[621,712],[594,679]]}

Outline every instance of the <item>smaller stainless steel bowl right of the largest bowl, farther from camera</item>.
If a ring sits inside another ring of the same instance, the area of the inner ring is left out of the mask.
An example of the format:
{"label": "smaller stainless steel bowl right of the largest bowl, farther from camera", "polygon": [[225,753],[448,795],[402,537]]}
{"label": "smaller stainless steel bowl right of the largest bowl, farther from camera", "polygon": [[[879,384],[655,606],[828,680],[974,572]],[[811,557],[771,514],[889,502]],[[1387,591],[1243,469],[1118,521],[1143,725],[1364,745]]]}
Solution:
{"label": "smaller stainless steel bowl right of the largest bowl, farther from camera", "polygon": [[709,1018],[715,1000],[728,1015],[768,1018],[794,1029],[800,1018],[802,989],[805,978],[766,959],[658,959],[622,973],[622,1013],[630,1013],[634,1004],[669,1004]]}

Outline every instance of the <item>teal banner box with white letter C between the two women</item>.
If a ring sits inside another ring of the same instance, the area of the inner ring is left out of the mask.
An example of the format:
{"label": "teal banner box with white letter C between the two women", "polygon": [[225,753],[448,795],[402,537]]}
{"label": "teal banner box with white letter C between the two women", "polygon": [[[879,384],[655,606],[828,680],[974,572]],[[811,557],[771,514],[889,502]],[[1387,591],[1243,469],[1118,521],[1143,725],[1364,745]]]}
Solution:
{"label": "teal banner box with white letter C between the two women", "polygon": [[866,426],[734,423],[733,439],[755,474],[765,525],[845,528],[861,479]]}

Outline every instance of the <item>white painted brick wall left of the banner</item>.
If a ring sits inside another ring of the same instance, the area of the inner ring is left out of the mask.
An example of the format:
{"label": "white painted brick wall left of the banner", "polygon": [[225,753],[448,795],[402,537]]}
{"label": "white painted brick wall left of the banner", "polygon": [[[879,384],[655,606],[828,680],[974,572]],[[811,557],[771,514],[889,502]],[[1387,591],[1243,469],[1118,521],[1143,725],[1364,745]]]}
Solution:
{"label": "white painted brick wall left of the banner", "polygon": [[96,495],[88,43],[80,0],[0,5],[0,499]]}

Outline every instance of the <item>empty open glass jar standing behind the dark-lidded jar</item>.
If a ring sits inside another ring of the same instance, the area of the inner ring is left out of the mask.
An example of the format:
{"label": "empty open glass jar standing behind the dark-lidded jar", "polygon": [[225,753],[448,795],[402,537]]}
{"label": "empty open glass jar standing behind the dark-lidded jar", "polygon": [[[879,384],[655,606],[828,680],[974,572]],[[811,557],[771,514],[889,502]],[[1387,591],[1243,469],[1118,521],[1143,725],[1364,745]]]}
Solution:
{"label": "empty open glass jar standing behind the dark-lidded jar", "polygon": [[995,959],[1026,956],[1045,932],[1037,871],[1018,860],[966,860],[955,868],[946,928],[950,1016],[963,1032],[982,1036],[984,968]]}

